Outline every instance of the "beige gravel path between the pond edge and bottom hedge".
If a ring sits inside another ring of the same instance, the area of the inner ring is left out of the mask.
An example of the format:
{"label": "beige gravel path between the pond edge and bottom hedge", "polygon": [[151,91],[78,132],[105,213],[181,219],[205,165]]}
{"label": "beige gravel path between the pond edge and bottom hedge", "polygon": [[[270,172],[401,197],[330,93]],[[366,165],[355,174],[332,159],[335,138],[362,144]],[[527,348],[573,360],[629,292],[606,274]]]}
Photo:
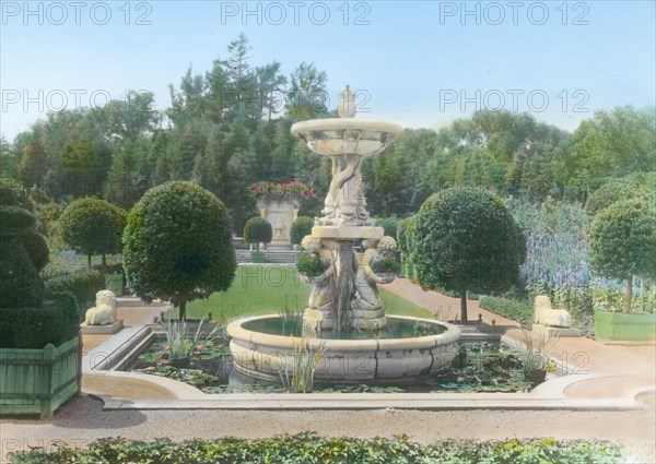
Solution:
{"label": "beige gravel path between the pond edge and bottom hedge", "polygon": [[74,398],[51,420],[0,420],[2,463],[15,449],[51,445],[66,440],[85,445],[101,437],[175,440],[236,436],[271,437],[316,431],[323,436],[372,438],[407,433],[413,440],[503,439],[554,437],[605,439],[625,445],[634,463],[656,463],[654,396],[642,400],[645,411],[114,411],[103,412],[93,396]]}

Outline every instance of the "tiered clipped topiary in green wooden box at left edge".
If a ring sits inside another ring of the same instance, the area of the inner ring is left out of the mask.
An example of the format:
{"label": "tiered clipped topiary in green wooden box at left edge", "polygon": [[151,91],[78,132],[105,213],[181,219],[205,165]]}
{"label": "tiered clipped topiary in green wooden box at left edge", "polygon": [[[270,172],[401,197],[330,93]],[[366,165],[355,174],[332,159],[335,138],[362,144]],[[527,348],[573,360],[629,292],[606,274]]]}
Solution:
{"label": "tiered clipped topiary in green wooden box at left edge", "polygon": [[75,296],[48,288],[48,262],[34,204],[13,180],[0,180],[0,414],[40,414],[80,391],[80,308]]}

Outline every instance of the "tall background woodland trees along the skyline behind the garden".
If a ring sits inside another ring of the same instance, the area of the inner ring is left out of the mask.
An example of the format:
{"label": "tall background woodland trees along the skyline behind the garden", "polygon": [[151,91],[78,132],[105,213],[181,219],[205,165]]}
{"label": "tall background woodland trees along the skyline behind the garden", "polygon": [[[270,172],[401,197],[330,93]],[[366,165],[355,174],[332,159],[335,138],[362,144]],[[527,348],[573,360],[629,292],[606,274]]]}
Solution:
{"label": "tall background woodland trees along the skyline behind the garden", "polygon": [[[335,116],[328,75],[302,62],[251,62],[239,35],[204,73],[189,68],[171,85],[171,105],[127,92],[102,108],[50,114],[2,144],[2,170],[48,201],[104,197],[131,207],[151,187],[194,180],[227,205],[233,231],[257,214],[246,186],[297,178],[321,197],[328,159],[290,133],[301,119]],[[541,202],[585,201],[610,178],[654,171],[654,109],[602,110],[570,134],[528,114],[481,110],[438,130],[406,129],[362,170],[374,216],[406,217],[432,193],[480,187]],[[312,211],[303,214],[312,215]]]}

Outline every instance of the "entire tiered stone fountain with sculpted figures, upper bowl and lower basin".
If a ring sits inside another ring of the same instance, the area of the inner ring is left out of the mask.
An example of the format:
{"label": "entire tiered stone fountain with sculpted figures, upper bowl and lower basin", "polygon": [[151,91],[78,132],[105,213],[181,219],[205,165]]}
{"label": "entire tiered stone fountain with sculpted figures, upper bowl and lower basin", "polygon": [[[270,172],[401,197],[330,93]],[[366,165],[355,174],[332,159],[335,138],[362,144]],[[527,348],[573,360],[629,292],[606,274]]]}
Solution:
{"label": "entire tiered stone fountain with sculpted figures, upper bowl and lower basin", "polygon": [[[383,152],[401,132],[389,122],[358,120],[349,87],[342,94],[340,118],[292,126],[292,133],[316,154],[329,156],[332,179],[323,217],[315,218],[303,248],[325,264],[311,279],[312,294],[303,317],[303,340],[281,333],[281,318],[266,316],[231,323],[235,369],[250,377],[278,380],[291,373],[295,346],[325,349],[317,382],[408,382],[448,366],[457,353],[458,328],[445,322],[386,316],[377,284],[394,276],[372,266],[395,255],[396,242],[384,237],[366,210],[360,165]],[[402,174],[400,174],[402,175]],[[362,258],[355,252],[362,247]]]}

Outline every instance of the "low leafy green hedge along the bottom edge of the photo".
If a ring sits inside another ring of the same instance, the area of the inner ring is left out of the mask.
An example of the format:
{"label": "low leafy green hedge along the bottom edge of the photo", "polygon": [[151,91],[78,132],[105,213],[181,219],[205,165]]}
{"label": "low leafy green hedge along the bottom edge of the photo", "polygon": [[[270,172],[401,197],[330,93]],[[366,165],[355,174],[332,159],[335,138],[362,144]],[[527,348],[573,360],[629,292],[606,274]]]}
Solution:
{"label": "low leafy green hedge along the bottom edge of the photo", "polygon": [[14,464],[159,463],[159,464],[265,464],[265,463],[624,463],[624,451],[598,440],[443,440],[433,443],[391,439],[324,438],[314,432],[266,439],[220,438],[132,441],[125,438],[97,440],[86,449],[48,447],[12,454]]}

